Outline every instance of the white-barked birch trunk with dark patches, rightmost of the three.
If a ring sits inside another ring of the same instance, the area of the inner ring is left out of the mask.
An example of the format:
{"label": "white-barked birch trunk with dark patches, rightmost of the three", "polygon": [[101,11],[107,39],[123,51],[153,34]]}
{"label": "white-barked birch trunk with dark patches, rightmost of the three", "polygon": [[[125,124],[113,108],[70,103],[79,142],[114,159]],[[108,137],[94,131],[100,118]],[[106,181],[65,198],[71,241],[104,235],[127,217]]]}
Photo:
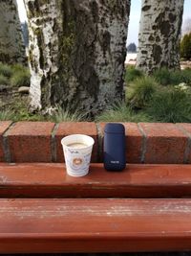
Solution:
{"label": "white-barked birch trunk with dark patches, rightmost of the three", "polygon": [[137,67],[147,74],[163,66],[180,68],[184,0],[142,0]]}

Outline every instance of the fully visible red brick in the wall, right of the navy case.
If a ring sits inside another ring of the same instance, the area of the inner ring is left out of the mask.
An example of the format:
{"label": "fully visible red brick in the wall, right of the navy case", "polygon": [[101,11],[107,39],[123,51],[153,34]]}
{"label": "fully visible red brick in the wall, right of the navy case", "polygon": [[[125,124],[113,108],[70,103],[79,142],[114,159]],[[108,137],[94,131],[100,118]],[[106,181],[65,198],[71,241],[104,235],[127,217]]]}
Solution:
{"label": "fully visible red brick in the wall, right of the navy case", "polygon": [[146,134],[144,163],[179,164],[184,161],[187,136],[174,124],[140,123]]}

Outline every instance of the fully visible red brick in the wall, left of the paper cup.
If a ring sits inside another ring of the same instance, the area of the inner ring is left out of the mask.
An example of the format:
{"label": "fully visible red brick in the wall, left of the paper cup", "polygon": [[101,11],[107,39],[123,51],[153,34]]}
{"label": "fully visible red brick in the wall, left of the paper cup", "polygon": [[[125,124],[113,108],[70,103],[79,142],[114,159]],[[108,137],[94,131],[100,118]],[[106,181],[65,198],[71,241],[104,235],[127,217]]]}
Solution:
{"label": "fully visible red brick in the wall, left of the paper cup", "polygon": [[52,131],[49,122],[18,122],[8,132],[12,162],[51,162]]}

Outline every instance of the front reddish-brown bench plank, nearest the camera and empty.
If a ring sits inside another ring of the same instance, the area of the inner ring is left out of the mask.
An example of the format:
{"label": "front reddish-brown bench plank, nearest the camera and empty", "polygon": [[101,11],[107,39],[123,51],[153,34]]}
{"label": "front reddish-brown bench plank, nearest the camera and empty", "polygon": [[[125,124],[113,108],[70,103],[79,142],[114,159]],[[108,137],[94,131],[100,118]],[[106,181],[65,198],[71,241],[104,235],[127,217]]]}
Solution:
{"label": "front reddish-brown bench plank, nearest the camera and empty", "polygon": [[191,249],[191,199],[0,199],[0,253]]}

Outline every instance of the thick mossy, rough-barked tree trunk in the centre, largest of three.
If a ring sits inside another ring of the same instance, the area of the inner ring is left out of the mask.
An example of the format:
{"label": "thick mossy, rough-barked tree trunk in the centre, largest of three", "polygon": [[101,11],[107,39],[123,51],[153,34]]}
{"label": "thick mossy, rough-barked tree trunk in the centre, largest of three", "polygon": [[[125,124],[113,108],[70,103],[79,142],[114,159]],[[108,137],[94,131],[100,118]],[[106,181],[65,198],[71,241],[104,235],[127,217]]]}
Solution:
{"label": "thick mossy, rough-barked tree trunk in the centre, largest of three", "polygon": [[32,108],[94,116],[123,98],[130,0],[25,0]]}

